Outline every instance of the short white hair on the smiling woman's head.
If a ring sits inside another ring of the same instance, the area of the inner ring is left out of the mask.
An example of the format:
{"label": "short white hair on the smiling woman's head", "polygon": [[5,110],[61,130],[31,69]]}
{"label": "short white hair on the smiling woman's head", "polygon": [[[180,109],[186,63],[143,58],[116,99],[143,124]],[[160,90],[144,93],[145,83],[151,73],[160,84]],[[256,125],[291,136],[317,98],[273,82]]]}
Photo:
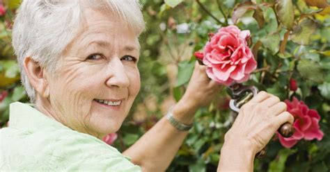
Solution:
{"label": "short white hair on the smiling woman's head", "polygon": [[139,0],[23,0],[13,26],[13,47],[32,103],[36,92],[23,69],[25,58],[33,58],[54,73],[58,58],[82,28],[86,8],[113,12],[137,37],[145,29]]}

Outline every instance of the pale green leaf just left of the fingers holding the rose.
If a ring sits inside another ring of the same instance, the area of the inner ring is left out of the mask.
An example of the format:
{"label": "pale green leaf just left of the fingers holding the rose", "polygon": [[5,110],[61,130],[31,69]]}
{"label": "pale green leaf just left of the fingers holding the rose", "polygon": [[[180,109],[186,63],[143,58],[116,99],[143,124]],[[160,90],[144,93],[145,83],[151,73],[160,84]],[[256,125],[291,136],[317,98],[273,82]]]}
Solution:
{"label": "pale green leaf just left of the fingers holding the rose", "polygon": [[179,62],[178,80],[175,87],[180,87],[189,82],[191,74],[194,71],[195,62],[182,61]]}

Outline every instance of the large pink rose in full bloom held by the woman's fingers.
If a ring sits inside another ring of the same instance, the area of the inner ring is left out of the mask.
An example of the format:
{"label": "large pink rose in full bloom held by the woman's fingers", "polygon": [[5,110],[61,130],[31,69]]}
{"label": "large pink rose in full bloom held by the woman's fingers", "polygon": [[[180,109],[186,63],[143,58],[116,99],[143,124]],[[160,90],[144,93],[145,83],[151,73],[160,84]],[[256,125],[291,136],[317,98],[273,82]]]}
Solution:
{"label": "large pink rose in full bloom held by the woman's fingers", "polygon": [[227,86],[248,80],[257,67],[247,44],[249,38],[250,31],[240,31],[237,26],[223,27],[210,35],[203,53],[207,76]]}

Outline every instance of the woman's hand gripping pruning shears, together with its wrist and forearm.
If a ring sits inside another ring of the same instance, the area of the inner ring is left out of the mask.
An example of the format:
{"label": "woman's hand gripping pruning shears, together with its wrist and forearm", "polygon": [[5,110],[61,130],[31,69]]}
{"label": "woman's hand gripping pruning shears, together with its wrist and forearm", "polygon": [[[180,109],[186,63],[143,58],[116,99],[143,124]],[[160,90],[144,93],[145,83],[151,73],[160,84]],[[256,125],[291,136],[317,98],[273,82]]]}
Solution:
{"label": "woman's hand gripping pruning shears, together with its wrist and forearm", "polygon": [[293,123],[285,103],[260,92],[243,105],[233,126],[225,135],[218,171],[253,171],[256,153],[266,146],[285,122]]}

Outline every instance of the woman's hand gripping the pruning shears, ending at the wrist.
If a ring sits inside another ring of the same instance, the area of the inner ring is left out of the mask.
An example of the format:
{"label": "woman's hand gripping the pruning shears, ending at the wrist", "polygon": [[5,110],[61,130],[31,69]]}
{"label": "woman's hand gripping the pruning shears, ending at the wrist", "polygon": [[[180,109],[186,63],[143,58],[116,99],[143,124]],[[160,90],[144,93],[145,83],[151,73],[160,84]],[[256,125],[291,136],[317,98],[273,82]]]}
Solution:
{"label": "woman's hand gripping the pruning shears, ending at the wrist", "polygon": [[293,123],[294,118],[286,108],[278,97],[267,92],[258,93],[241,107],[232,128],[225,135],[225,142],[246,144],[258,153],[283,123]]}

